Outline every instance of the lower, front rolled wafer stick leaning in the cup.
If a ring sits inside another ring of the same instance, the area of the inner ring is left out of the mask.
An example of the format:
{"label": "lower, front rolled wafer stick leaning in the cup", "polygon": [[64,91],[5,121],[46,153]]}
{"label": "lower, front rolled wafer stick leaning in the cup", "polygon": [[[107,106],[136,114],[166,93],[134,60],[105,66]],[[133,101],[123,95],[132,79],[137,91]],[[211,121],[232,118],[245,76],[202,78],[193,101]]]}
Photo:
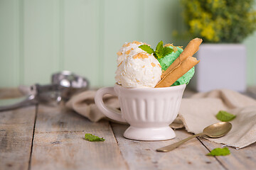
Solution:
{"label": "lower, front rolled wafer stick leaning in the cup", "polygon": [[196,60],[195,57],[187,57],[186,60],[181,62],[179,67],[174,68],[169,74],[166,74],[166,76],[156,84],[155,88],[171,86],[177,79],[182,77],[183,74],[186,74],[188,70],[198,64],[198,62],[200,62],[200,60]]}

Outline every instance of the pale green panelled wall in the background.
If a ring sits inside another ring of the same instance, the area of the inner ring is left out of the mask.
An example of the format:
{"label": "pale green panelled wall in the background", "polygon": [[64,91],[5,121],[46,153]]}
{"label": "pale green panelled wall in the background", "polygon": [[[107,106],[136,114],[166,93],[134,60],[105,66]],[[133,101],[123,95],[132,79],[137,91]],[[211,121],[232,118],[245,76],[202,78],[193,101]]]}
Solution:
{"label": "pale green panelled wall in the background", "polygon": [[[50,83],[70,70],[91,86],[112,86],[124,42],[186,46],[178,0],[0,0],[0,87]],[[175,40],[176,39],[176,40]],[[256,85],[256,33],[247,47],[247,84]]]}

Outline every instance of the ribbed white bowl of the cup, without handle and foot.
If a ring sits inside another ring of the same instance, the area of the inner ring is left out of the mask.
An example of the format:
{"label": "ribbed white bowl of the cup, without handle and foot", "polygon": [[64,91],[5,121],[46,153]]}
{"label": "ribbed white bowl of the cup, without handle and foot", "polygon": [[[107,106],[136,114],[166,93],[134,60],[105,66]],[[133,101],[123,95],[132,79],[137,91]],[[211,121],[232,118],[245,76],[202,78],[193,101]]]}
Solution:
{"label": "ribbed white bowl of the cup, without handle and foot", "polygon": [[122,116],[136,127],[161,127],[171,124],[181,104],[186,85],[168,88],[127,89],[115,85]]}

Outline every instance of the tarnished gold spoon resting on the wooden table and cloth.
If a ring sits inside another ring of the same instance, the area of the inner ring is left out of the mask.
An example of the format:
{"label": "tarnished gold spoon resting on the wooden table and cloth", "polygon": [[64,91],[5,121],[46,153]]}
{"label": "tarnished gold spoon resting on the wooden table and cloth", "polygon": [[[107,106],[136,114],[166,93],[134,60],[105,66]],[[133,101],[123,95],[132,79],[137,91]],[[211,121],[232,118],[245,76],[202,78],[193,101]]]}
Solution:
{"label": "tarnished gold spoon resting on the wooden table and cloth", "polygon": [[161,147],[159,149],[156,149],[158,152],[169,152],[171,150],[176,149],[179,145],[183,144],[184,142],[187,142],[188,140],[191,140],[193,137],[203,136],[206,135],[208,137],[223,137],[226,135],[232,128],[232,124],[228,122],[221,122],[221,123],[215,123],[213,125],[209,125],[208,127],[203,129],[203,132],[198,133],[196,135],[193,135],[191,137],[188,137],[184,140],[181,140],[179,142],[176,142],[174,144],[168,145],[166,147]]}

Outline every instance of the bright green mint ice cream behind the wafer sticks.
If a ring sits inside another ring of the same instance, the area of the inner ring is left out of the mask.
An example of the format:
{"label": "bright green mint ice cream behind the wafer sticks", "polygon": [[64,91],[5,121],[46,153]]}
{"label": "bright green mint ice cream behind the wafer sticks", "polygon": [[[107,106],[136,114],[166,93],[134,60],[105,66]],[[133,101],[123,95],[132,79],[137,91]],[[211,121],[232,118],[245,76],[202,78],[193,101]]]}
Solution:
{"label": "bright green mint ice cream behind the wafer sticks", "polygon": [[[170,46],[171,49],[174,49],[174,47]],[[183,52],[183,49],[180,47],[176,47],[176,52],[171,52],[171,54],[166,55],[165,57],[161,59],[157,59],[159,63],[161,64],[161,69],[166,69],[178,58],[179,55],[181,55],[181,52]],[[195,73],[195,67],[190,69],[186,74],[184,74],[181,78],[179,78],[177,81],[174,82],[171,86],[177,86],[181,84],[188,84],[190,79],[193,77],[193,74]]]}

